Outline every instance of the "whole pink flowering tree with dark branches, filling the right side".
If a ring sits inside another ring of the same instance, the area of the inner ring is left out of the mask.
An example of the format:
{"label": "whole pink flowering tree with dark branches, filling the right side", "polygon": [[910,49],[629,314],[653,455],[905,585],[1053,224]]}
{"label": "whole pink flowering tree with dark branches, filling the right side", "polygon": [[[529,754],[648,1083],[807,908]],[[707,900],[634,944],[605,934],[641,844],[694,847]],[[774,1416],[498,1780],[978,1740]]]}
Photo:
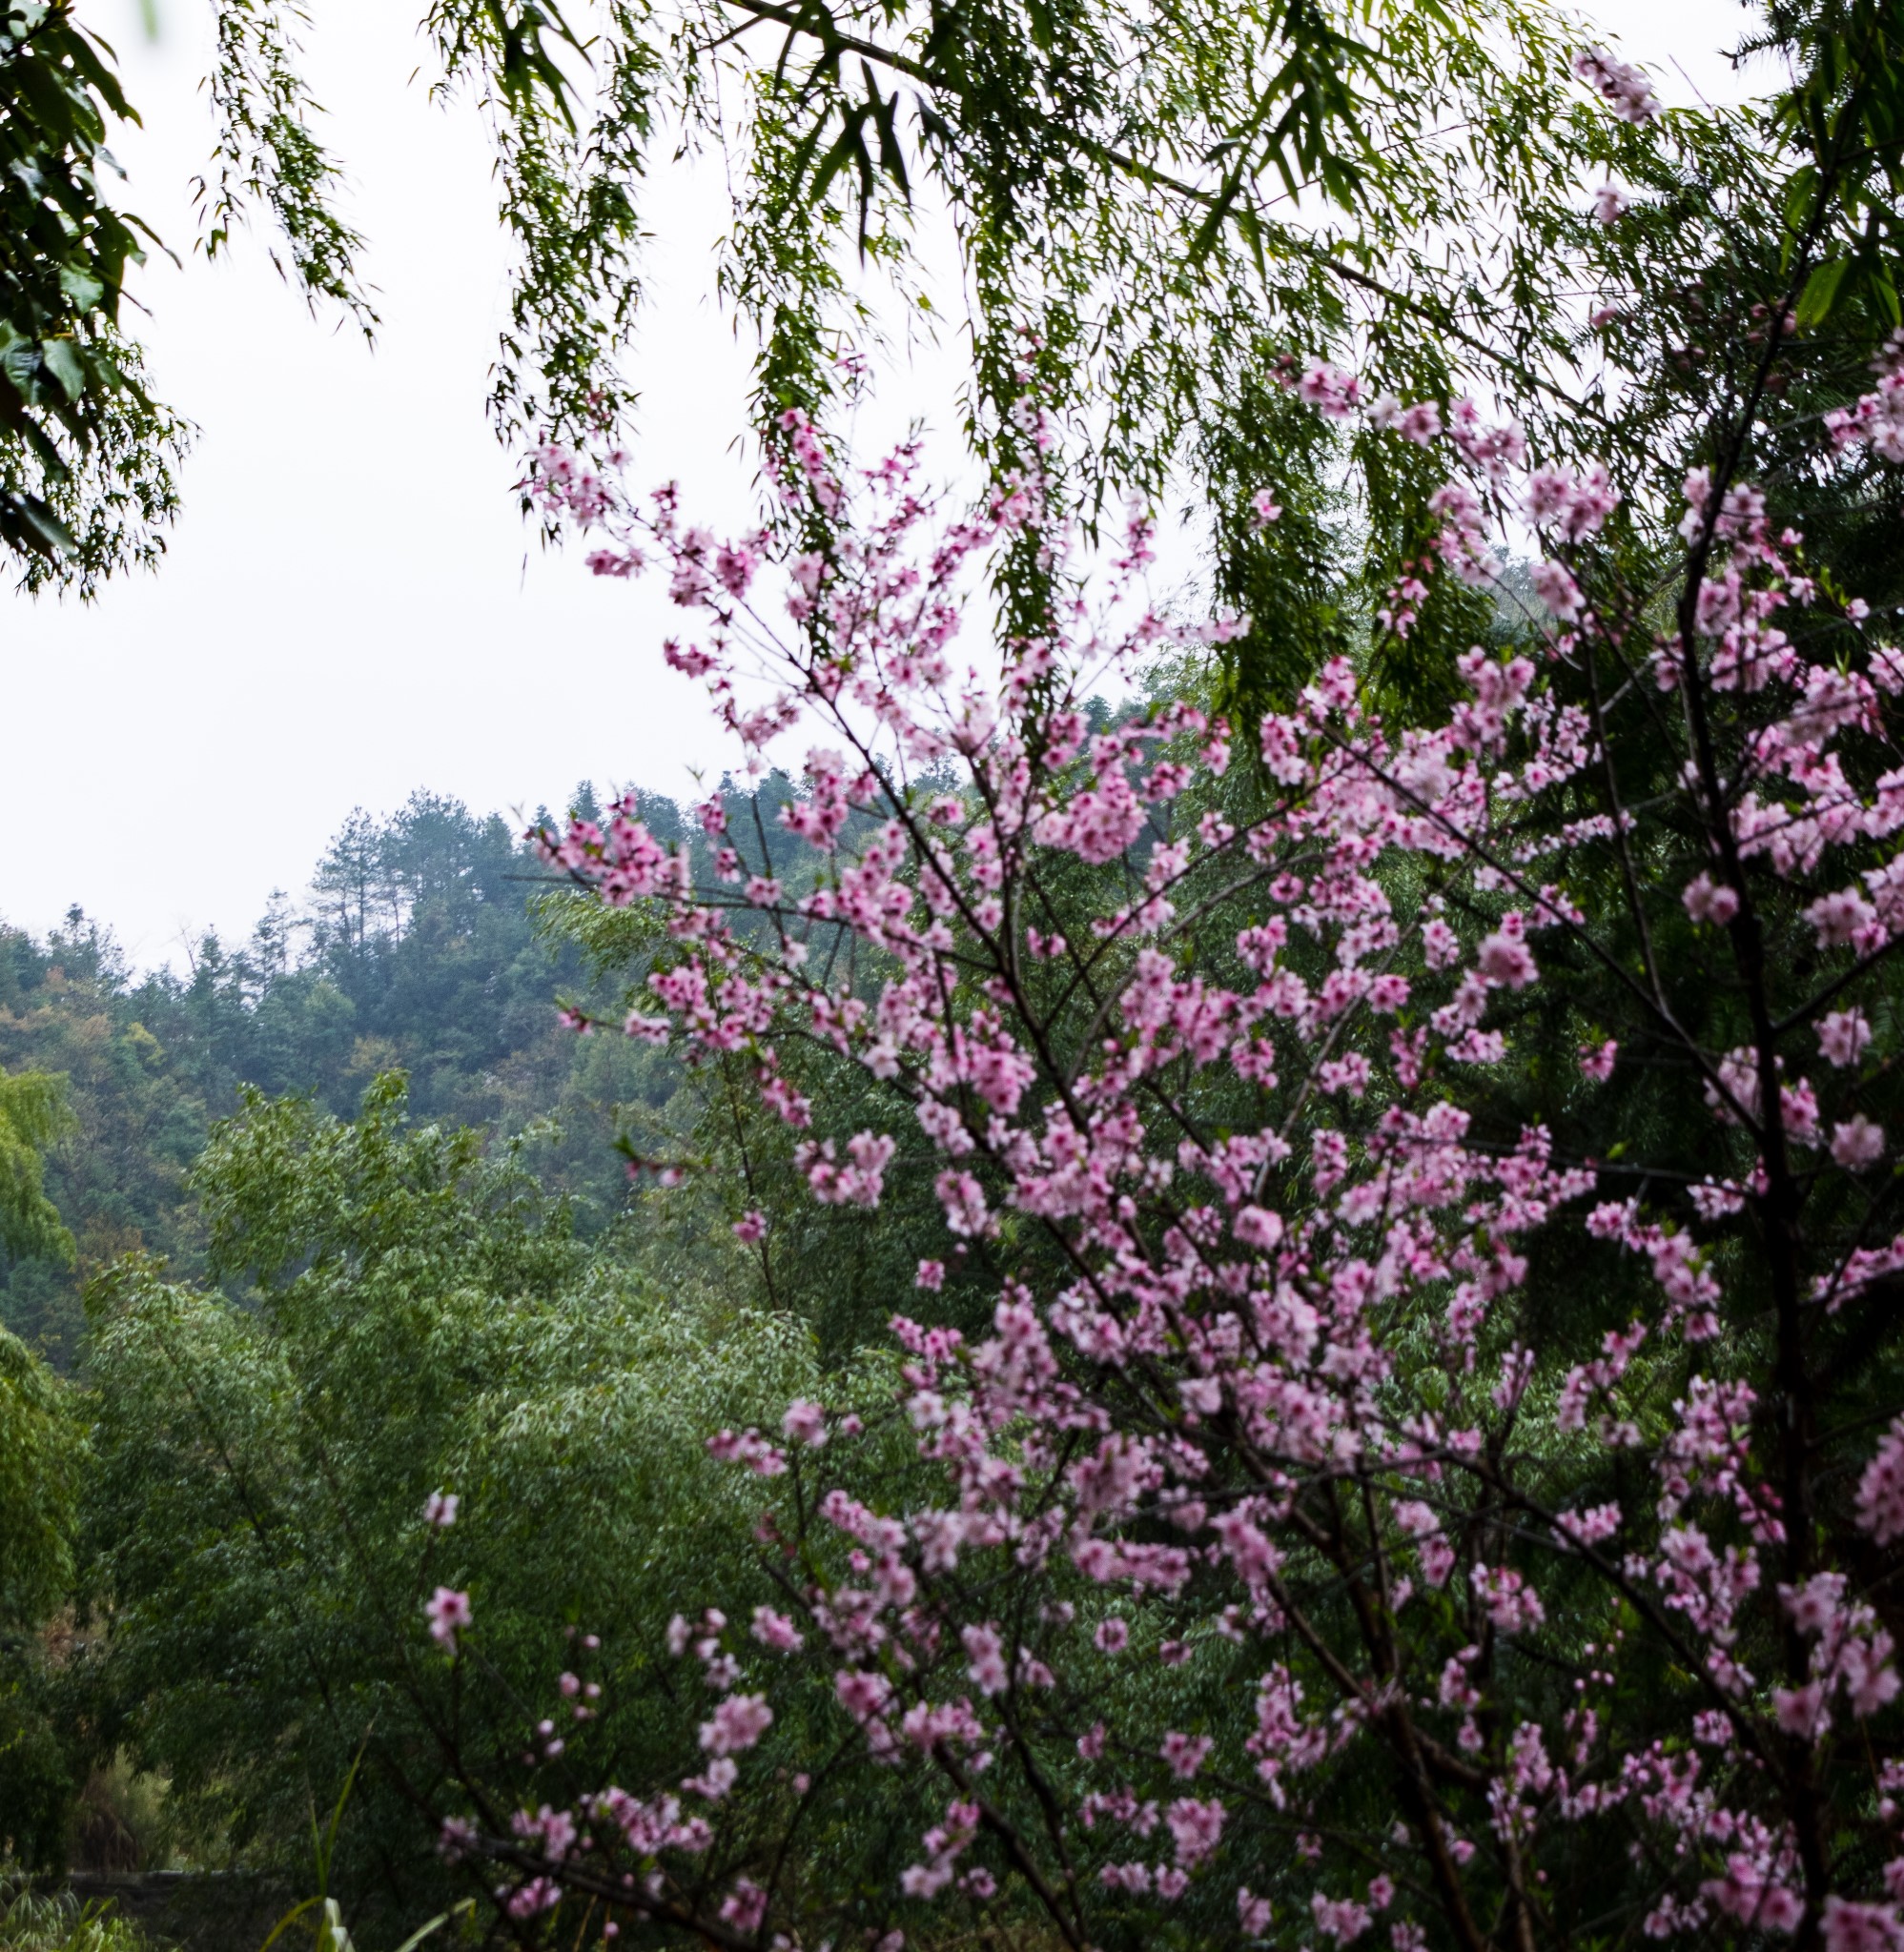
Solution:
{"label": "whole pink flowering tree with dark branches, filling the right side", "polygon": [[[539,455],[600,574],[670,576],[748,763],[807,744],[799,874],[719,796],[703,851],[633,798],[541,835],[666,917],[600,1029],[744,1076],[822,1206],[924,1177],[935,1238],[885,1364],[711,1439],[775,1591],[682,1595],[678,1770],[570,1767],[586,1659],[521,1780],[455,1759],[445,1849],[519,1932],[1904,1942],[1904,652],[1742,472],[1808,275],[1664,513],[1283,363],[1431,476],[1379,630],[1500,593],[1412,724],[1349,658],[1224,722],[1240,619],[1160,615],[1144,515],[1096,562],[1037,465],[947,521],[789,414],[785,529],[723,543]],[[1900,353],[1820,478],[1894,455]],[[1002,550],[1049,611],[961,652]],[[887,1115],[828,1130],[801,1052]],[[430,1624],[469,1659],[480,1593]]]}

